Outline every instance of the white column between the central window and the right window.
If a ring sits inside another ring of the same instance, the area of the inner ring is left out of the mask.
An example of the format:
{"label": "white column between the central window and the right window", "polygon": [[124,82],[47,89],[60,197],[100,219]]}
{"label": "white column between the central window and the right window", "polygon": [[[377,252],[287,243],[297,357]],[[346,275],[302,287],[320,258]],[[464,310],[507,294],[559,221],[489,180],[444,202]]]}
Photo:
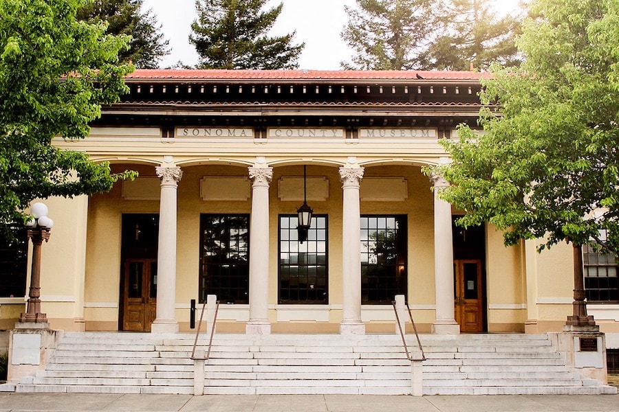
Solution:
{"label": "white column between the central window and the right window", "polygon": [[340,334],[365,334],[361,321],[361,223],[359,186],[363,168],[340,168],[344,205],[342,222],[343,312]]}

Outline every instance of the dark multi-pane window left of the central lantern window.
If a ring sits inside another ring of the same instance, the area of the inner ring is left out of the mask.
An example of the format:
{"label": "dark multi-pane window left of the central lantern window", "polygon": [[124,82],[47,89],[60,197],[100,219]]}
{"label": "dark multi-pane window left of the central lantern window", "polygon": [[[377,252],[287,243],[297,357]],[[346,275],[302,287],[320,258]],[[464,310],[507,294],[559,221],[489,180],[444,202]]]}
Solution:
{"label": "dark multi-pane window left of the central lantern window", "polygon": [[200,215],[199,297],[217,295],[227,304],[249,303],[248,214]]}

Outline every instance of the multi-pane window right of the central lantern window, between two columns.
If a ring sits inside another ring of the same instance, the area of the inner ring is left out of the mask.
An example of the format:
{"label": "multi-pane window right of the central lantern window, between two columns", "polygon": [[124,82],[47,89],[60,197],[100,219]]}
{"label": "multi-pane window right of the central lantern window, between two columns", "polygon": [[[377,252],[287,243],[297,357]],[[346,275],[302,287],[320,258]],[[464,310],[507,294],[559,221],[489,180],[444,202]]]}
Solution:
{"label": "multi-pane window right of the central lantern window, between two columns", "polygon": [[406,216],[361,216],[361,302],[406,295]]}

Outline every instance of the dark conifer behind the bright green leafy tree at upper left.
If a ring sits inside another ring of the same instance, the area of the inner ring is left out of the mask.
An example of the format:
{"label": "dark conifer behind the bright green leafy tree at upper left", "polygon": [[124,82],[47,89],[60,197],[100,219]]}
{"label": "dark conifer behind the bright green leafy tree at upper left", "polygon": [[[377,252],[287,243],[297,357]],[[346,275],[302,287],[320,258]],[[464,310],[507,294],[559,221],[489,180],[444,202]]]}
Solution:
{"label": "dark conifer behind the bright green leafy tree at upper left", "polygon": [[107,33],[131,36],[129,49],[120,52],[122,62],[133,62],[138,69],[157,69],[160,60],[170,53],[169,42],[153,11],[142,12],[143,0],[95,0],[78,9],[79,20],[105,21]]}

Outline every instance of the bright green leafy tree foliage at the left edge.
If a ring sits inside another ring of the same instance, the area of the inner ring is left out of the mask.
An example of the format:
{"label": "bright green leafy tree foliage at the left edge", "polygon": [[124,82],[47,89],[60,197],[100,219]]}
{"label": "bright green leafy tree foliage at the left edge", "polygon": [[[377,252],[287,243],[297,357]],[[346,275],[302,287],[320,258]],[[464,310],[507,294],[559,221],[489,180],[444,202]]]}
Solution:
{"label": "bright green leafy tree foliage at the left edge", "polygon": [[52,139],[80,139],[102,104],[127,91],[118,64],[129,38],[76,19],[84,0],[0,0],[0,222],[34,198],[111,189],[120,177]]}

